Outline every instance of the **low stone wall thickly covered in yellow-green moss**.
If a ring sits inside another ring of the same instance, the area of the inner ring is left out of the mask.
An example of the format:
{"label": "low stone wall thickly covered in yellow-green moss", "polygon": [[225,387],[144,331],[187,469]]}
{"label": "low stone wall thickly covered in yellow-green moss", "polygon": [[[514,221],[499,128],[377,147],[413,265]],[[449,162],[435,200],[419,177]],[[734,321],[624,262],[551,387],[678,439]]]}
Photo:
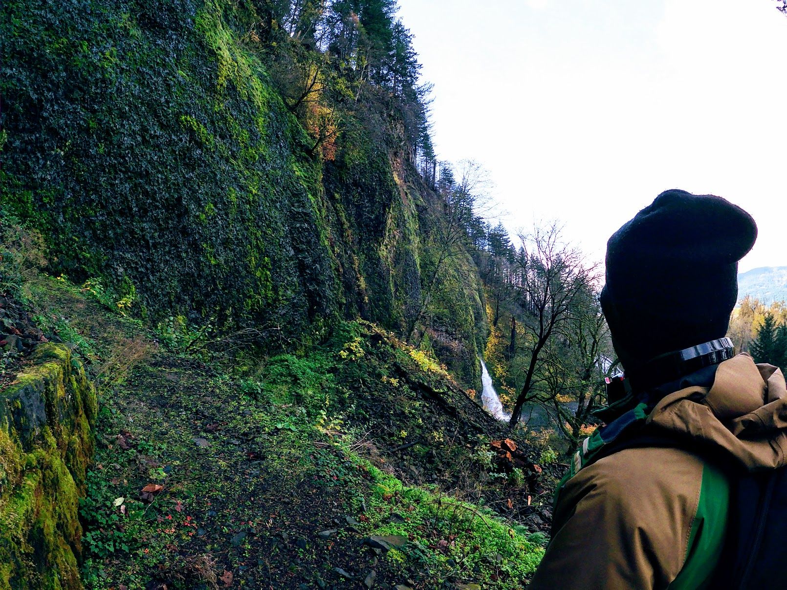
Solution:
{"label": "low stone wall thickly covered in yellow-green moss", "polygon": [[65,345],[39,345],[0,392],[0,588],[82,587],[77,511],[96,410]]}

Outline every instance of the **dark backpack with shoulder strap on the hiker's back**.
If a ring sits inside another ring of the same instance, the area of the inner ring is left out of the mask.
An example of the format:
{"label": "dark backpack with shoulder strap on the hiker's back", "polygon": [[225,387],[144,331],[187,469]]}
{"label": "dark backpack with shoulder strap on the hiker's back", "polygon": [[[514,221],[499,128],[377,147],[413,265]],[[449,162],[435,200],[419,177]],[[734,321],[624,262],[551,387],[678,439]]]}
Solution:
{"label": "dark backpack with shoulder strap on the hiker's back", "polygon": [[[698,448],[695,440],[634,430],[615,437],[582,466],[637,447],[683,448],[720,463],[711,448]],[[730,514],[720,565],[710,588],[787,588],[787,467],[755,474],[724,470],[730,477]]]}

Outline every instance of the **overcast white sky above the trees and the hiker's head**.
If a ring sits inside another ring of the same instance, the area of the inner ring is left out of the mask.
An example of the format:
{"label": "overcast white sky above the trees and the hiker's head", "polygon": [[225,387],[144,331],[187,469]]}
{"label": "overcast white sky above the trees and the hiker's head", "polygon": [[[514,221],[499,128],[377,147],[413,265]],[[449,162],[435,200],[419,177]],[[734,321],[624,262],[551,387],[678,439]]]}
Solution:
{"label": "overcast white sky above the trees and the hiker's head", "polygon": [[787,17],[773,0],[400,0],[442,160],[478,160],[513,233],[560,219],[592,258],[662,190],[759,226],[787,265]]}

